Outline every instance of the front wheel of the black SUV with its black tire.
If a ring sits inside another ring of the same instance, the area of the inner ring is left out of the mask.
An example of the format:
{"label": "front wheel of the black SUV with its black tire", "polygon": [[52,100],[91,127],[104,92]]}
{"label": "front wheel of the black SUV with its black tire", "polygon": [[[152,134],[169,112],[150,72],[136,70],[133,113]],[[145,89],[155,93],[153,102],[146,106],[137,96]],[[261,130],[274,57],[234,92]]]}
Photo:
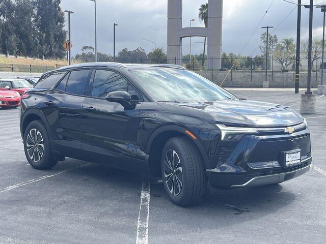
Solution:
{"label": "front wheel of the black SUV with its black tire", "polygon": [[[169,155],[171,164],[166,160]],[[172,202],[189,206],[202,201],[207,192],[207,176],[200,151],[190,139],[173,137],[167,141],[161,156],[161,172],[164,188]],[[173,180],[177,183],[175,189],[172,187]]]}

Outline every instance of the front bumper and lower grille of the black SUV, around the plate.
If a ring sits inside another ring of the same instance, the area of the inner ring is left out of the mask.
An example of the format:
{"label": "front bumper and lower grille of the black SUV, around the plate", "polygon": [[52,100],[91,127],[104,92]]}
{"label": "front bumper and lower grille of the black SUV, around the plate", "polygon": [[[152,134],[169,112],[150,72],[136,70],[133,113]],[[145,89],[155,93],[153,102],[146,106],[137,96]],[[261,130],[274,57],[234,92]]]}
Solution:
{"label": "front bumper and lower grille of the black SUV, around the plate", "polygon": [[[301,163],[282,166],[282,151],[298,148],[302,149]],[[247,136],[234,146],[232,153],[225,155],[227,157],[220,157],[223,164],[219,162],[215,168],[206,170],[212,187],[226,189],[278,184],[309,171],[312,161],[310,134],[304,130],[293,135]]]}

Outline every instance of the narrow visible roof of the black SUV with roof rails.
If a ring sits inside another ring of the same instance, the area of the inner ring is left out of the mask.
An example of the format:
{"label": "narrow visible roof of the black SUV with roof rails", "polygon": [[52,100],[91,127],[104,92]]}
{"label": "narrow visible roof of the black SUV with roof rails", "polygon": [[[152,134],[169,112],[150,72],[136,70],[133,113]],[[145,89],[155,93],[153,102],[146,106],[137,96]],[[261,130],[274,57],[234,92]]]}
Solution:
{"label": "narrow visible roof of the black SUV with roof rails", "polygon": [[98,62],[98,63],[84,63],[84,64],[76,64],[70,66],[63,66],[58,68],[57,70],[66,70],[66,69],[74,69],[74,68],[99,68],[99,67],[106,67],[106,68],[120,68],[120,69],[155,69],[155,68],[174,68],[174,69],[184,69],[182,66],[179,65],[172,65],[172,64],[120,64],[120,63],[110,63],[110,62]]}

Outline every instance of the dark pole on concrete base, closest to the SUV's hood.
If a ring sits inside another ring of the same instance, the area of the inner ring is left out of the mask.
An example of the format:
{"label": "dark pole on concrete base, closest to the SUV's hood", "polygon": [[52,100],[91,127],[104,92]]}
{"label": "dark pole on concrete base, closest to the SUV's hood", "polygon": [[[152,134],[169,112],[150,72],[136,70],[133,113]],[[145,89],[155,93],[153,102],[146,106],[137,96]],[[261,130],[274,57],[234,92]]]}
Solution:
{"label": "dark pole on concrete base, closest to the SUV's hood", "polygon": [[301,113],[316,113],[316,94],[311,92],[311,51],[312,51],[312,20],[313,20],[313,0],[310,0],[309,5],[309,40],[308,40],[308,79],[307,79],[307,92],[301,94],[300,112]]}

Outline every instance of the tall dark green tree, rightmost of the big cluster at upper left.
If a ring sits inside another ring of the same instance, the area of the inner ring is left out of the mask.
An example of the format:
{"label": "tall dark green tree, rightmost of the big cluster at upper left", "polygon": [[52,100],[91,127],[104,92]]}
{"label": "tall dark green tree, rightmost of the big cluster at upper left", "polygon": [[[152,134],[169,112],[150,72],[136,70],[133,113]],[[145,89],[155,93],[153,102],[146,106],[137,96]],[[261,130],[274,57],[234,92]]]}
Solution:
{"label": "tall dark green tree, rightmost of the big cluster at upper left", "polygon": [[60,8],[61,0],[32,0],[35,11],[35,27],[38,32],[39,56],[63,58],[62,44],[66,40],[65,17]]}

